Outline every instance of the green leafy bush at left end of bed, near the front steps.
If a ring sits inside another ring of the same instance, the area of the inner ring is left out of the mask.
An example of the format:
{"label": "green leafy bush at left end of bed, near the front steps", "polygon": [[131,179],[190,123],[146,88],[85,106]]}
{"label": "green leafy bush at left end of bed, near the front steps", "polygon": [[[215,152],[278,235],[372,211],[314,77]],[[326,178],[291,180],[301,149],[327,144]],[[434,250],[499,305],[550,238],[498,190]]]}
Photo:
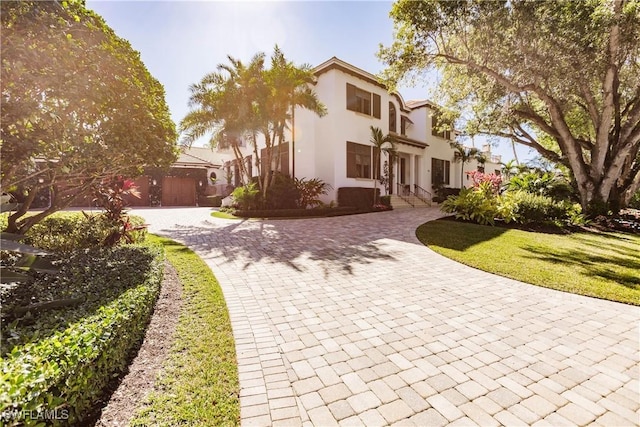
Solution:
{"label": "green leafy bush at left end of bed, near the front steps", "polygon": [[487,197],[482,191],[463,188],[458,196],[449,196],[441,209],[455,214],[458,219],[493,225],[498,214],[498,203],[495,197]]}

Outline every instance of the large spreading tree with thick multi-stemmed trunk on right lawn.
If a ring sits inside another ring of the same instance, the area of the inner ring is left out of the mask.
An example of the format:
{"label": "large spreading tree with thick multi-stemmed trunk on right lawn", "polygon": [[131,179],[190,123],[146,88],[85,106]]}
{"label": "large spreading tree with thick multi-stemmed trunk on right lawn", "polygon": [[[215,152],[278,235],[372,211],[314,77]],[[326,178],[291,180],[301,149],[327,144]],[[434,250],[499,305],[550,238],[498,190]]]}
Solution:
{"label": "large spreading tree with thick multi-stemmed trunk on right lawn", "polygon": [[391,84],[438,69],[469,133],[511,138],[565,165],[584,209],[640,188],[640,2],[400,0],[380,51]]}

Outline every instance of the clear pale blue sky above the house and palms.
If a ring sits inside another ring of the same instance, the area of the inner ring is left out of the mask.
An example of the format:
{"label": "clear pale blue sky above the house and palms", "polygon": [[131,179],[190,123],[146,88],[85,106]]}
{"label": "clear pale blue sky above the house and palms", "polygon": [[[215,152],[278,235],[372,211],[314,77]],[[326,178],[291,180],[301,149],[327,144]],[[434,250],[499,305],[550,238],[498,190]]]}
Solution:
{"label": "clear pale blue sky above the house and palms", "polygon": [[[277,44],[295,64],[316,66],[336,56],[377,74],[376,53],[393,41],[390,1],[114,1],[88,0],[140,52],[149,72],[162,83],[176,124],[189,111],[189,86],[228,64],[227,56],[248,62]],[[435,82],[400,85],[405,101],[434,99]],[[482,141],[476,140],[476,146]],[[493,148],[513,158],[510,143]],[[533,157],[522,147],[520,160]]]}

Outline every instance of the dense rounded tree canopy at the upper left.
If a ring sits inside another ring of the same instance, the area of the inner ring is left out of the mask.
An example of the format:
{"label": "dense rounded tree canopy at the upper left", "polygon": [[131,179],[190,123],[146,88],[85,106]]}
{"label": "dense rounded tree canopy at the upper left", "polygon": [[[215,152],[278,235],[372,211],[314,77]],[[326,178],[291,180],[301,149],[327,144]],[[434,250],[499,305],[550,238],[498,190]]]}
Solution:
{"label": "dense rounded tree canopy at the upper left", "polygon": [[[164,88],[84,2],[3,1],[1,8],[1,183],[23,198],[8,231],[26,232],[105,177],[175,160]],[[42,189],[51,205],[25,216]]]}

